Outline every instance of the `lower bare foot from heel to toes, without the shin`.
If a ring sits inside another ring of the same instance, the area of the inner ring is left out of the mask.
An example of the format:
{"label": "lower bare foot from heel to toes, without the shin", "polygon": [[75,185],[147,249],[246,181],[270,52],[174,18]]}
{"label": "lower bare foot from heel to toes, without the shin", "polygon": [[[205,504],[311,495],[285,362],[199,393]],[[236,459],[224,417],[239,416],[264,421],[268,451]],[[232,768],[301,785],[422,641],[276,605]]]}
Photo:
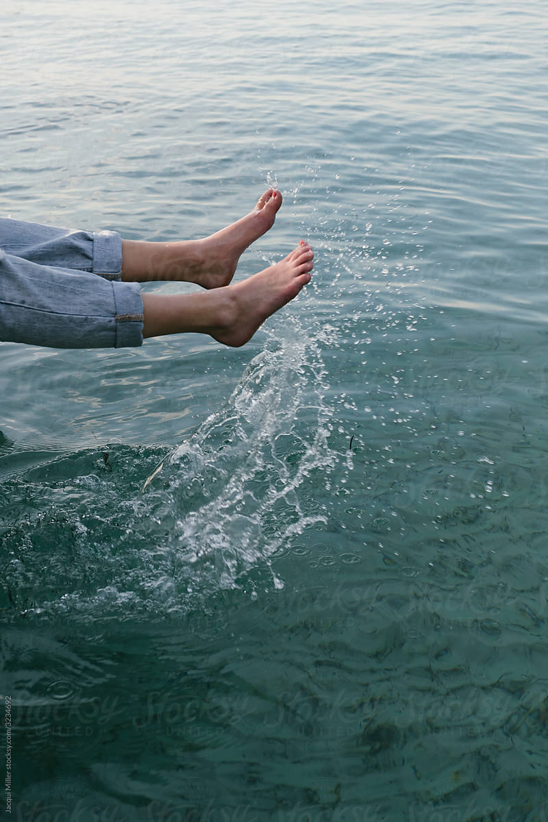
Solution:
{"label": "lower bare foot from heel to toes, without the shin", "polygon": [[210,330],[219,343],[238,347],[245,344],[267,317],[296,297],[310,282],[314,252],[301,241],[285,260],[258,274],[229,285],[227,310],[221,313],[222,327]]}

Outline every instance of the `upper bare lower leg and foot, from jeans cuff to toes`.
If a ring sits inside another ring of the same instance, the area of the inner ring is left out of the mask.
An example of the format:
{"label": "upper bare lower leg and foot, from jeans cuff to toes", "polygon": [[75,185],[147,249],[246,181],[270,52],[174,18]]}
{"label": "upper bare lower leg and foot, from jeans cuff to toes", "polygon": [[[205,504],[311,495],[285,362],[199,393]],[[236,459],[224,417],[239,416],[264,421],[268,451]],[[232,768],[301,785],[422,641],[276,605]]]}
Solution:
{"label": "upper bare lower leg and foot, from jeans cuff to toes", "polygon": [[248,215],[203,240],[122,240],[122,279],[137,283],[179,280],[205,289],[228,285],[240,256],[272,227],[280,205],[282,195],[269,188]]}

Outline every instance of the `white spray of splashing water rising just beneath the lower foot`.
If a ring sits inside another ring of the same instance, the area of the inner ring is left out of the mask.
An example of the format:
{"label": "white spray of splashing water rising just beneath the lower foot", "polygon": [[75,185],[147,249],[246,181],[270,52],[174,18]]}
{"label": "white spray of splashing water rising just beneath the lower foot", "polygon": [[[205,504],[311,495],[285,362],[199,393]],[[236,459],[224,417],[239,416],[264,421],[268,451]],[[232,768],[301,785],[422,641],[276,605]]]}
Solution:
{"label": "white spray of splashing water rising just beneath the lower foot", "polygon": [[[205,574],[233,587],[257,562],[269,563],[295,535],[325,521],[301,494],[336,459],[320,347],[304,335],[271,343],[225,407],[164,461],[151,483],[152,489],[162,483],[149,498],[155,519],[168,521],[169,550],[196,568],[189,587]],[[283,587],[272,575],[274,586]]]}

